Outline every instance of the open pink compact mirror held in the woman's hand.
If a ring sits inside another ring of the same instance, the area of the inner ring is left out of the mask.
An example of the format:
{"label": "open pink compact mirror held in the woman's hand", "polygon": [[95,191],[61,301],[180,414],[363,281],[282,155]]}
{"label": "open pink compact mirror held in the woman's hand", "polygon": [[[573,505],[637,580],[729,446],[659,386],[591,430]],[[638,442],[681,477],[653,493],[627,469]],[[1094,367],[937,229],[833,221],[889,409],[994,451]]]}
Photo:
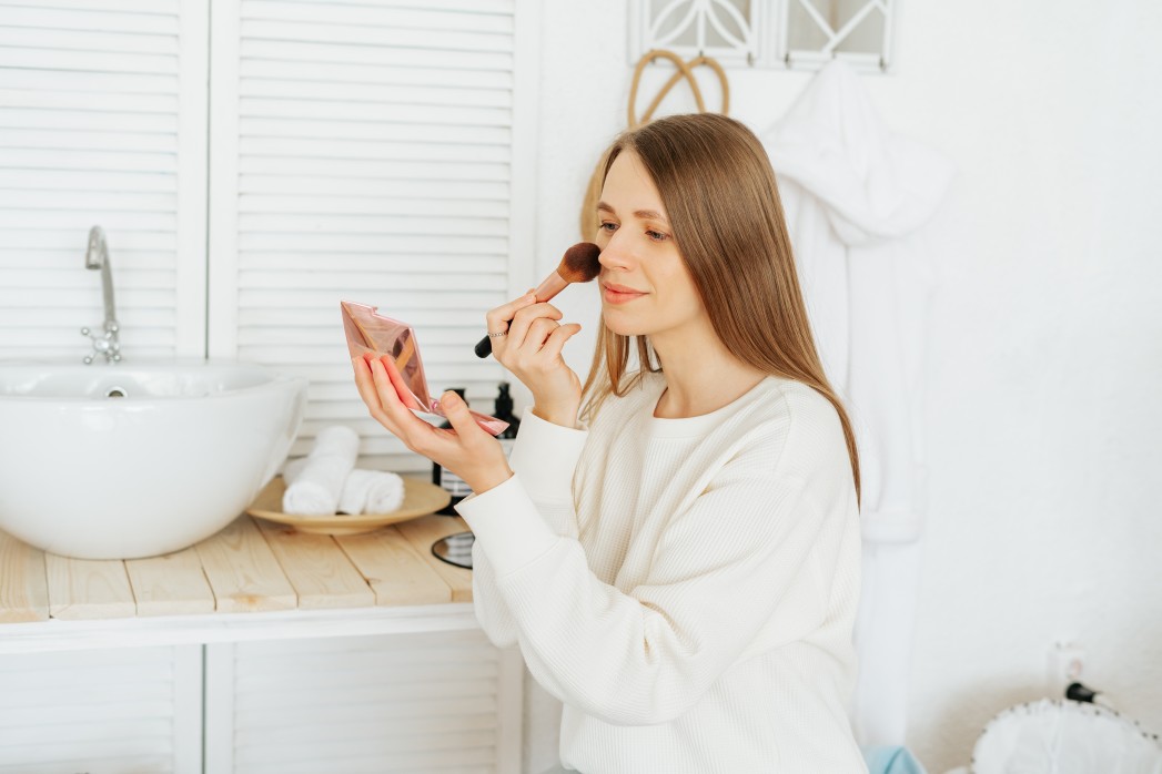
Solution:
{"label": "open pink compact mirror held in the woman's hand", "polygon": [[[439,400],[431,397],[428,378],[424,376],[424,364],[419,359],[419,345],[416,332],[407,323],[393,320],[375,312],[375,306],[357,304],[351,301],[339,302],[343,310],[343,331],[347,337],[347,352],[352,357],[372,356],[400,377],[399,382],[407,385],[407,391],[396,389],[396,395],[404,406],[413,411],[447,418]],[[500,435],[508,422],[495,417],[472,412],[483,429],[493,435]]]}

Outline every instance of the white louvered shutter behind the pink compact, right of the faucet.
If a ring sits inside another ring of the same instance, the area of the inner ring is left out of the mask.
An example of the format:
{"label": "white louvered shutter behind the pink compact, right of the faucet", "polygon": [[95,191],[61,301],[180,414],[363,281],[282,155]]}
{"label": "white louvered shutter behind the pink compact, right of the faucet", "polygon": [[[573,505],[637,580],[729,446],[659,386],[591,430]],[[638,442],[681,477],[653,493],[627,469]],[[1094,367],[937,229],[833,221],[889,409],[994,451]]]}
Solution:
{"label": "white louvered shutter behind the pink compact, right of the faucet", "polygon": [[340,299],[415,326],[433,395],[464,386],[493,410],[503,371],[473,346],[531,266],[515,244],[531,237],[514,222],[516,5],[215,6],[209,348],[310,379],[294,455],[337,422],[373,464],[428,464],[367,418]]}

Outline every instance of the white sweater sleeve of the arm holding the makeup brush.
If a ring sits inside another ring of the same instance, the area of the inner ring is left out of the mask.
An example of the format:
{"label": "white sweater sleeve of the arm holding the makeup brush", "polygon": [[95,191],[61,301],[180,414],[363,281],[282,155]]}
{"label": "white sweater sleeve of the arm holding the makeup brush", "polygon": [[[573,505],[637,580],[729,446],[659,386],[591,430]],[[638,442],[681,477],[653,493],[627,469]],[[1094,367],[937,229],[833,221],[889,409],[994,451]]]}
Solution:
{"label": "white sweater sleeve of the arm holding the makeup brush", "polygon": [[[533,482],[530,493],[548,529],[557,535],[576,537],[576,513],[573,507],[573,470],[588,433],[547,422],[531,411],[521,420],[521,433],[512,447],[509,465],[524,479]],[[502,484],[505,486],[508,483]],[[457,506],[467,506],[471,495]],[[462,515],[462,512],[460,512]],[[507,648],[517,641],[516,620],[508,609],[497,584],[496,571],[480,541],[472,547],[472,599],[476,620],[492,643]]]}

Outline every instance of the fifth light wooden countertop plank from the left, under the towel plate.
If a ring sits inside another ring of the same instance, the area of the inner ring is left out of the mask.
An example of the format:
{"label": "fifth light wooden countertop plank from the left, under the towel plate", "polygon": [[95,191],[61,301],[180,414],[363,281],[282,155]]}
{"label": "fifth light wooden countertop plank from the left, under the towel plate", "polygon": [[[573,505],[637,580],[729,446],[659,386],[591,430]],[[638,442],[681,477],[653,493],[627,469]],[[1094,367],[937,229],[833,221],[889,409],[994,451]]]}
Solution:
{"label": "fifth light wooden countertop plank from the left, under the towel plate", "polygon": [[256,519],[274,558],[299,595],[300,609],[368,607],[375,593],[330,535]]}

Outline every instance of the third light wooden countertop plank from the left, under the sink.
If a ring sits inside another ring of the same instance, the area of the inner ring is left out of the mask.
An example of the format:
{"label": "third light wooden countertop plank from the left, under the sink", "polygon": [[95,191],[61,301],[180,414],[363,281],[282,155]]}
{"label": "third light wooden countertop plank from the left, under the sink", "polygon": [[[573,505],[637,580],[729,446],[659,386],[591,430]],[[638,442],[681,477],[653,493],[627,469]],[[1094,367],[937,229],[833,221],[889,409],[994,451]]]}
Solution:
{"label": "third light wooden countertop plank from the left, under the sink", "polygon": [[196,615],[214,612],[214,592],[198,551],[127,559],[125,572],[137,599],[137,615]]}

